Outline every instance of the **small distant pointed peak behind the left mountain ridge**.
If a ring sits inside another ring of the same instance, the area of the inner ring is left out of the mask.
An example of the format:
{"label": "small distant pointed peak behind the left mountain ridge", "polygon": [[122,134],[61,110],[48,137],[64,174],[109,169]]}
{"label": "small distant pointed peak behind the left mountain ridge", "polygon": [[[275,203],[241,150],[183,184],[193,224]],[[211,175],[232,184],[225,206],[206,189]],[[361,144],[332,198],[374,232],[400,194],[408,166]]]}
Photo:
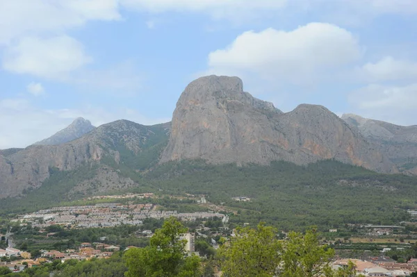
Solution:
{"label": "small distant pointed peak behind the left mountain ridge", "polygon": [[91,125],[91,122],[83,117],[75,119],[70,126],[59,131],[55,135],[48,137],[47,139],[36,142],[36,145],[58,145],[76,140],[79,137],[82,137],[86,133],[94,130],[95,126]]}

